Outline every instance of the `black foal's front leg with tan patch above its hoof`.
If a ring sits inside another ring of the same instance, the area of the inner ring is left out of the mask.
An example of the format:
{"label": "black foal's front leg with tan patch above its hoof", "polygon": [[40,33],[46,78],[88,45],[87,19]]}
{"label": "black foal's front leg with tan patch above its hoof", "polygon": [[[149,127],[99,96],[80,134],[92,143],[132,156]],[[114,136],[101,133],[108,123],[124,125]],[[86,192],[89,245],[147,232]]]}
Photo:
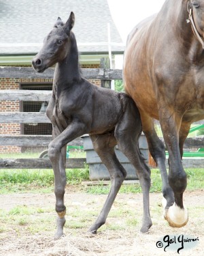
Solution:
{"label": "black foal's front leg with tan patch above its hoof", "polygon": [[[54,171],[54,193],[56,196],[56,233],[54,239],[61,238],[63,236],[63,227],[65,225],[65,214],[66,207],[64,204],[64,194],[66,186],[66,146],[67,143],[73,141],[73,139],[79,137],[80,135],[86,133],[84,130],[84,125],[73,123],[68,126],[63,132],[58,134],[58,129],[53,128],[54,139],[50,143],[48,148],[48,156],[52,162],[52,167]],[[58,136],[56,136],[58,134]]]}

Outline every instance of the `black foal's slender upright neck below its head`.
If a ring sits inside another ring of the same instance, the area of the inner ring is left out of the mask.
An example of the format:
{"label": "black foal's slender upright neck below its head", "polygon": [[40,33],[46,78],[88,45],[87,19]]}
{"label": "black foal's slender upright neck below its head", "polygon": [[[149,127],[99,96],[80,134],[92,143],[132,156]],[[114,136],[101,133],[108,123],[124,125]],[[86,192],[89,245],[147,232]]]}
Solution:
{"label": "black foal's slender upright neck below its head", "polygon": [[[71,46],[67,57],[60,63],[56,63],[54,71],[54,83],[58,87],[70,87],[74,83],[81,81],[79,68],[78,46],[75,40],[75,35],[71,32]],[[70,42],[69,42],[70,43]]]}

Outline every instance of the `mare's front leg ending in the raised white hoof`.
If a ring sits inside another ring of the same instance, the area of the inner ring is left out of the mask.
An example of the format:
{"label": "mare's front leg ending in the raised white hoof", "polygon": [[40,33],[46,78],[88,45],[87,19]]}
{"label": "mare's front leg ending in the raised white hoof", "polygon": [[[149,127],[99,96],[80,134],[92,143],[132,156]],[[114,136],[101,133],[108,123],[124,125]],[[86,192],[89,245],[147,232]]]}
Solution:
{"label": "mare's front leg ending in the raised white hoof", "polygon": [[160,108],[160,124],[169,152],[169,185],[173,189],[175,203],[166,210],[165,218],[172,227],[183,227],[188,222],[188,212],[184,208],[183,194],[187,186],[187,178],[179,147],[179,130],[182,117],[171,113],[165,108]]}

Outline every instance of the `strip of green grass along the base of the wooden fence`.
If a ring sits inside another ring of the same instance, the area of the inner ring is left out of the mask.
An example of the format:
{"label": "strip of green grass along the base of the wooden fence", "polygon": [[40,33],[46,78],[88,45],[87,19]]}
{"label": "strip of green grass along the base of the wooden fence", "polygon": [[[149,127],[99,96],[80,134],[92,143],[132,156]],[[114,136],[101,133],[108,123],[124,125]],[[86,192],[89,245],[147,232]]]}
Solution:
{"label": "strip of green grass along the base of the wooden fence", "polygon": [[[204,169],[186,169],[188,186],[187,190],[195,190],[204,187]],[[84,169],[67,169],[67,184],[79,185],[82,181],[89,180],[88,165]],[[152,169],[152,186],[150,193],[161,193],[162,181],[160,171]],[[110,184],[103,186],[103,182],[97,186],[80,186],[86,193],[101,195],[108,194]],[[1,193],[52,193],[54,190],[54,174],[52,169],[18,169],[0,170]],[[141,193],[139,184],[122,185],[119,193]]]}

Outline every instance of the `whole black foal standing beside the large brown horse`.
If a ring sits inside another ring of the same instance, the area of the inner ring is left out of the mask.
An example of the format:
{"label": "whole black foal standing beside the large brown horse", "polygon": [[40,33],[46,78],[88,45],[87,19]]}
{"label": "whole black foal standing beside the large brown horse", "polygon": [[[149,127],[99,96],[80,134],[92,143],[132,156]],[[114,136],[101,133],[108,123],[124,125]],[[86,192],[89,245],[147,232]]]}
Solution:
{"label": "whole black foal standing beside the large brown horse", "polygon": [[53,140],[48,156],[54,170],[57,230],[55,238],[63,235],[66,207],[66,145],[83,134],[90,134],[95,151],[107,167],[112,186],[91,233],[105,223],[107,214],[126,177],[126,171],[116,157],[114,147],[131,161],[143,189],[142,232],[152,225],[149,210],[150,169],[139,152],[141,119],[135,102],[125,93],[97,87],[83,79],[78,62],[78,47],[72,32],[75,16],[71,12],[67,23],[58,18],[54,28],[44,40],[44,46],[33,59],[33,68],[44,72],[56,63],[52,98],[46,113],[52,122]]}

